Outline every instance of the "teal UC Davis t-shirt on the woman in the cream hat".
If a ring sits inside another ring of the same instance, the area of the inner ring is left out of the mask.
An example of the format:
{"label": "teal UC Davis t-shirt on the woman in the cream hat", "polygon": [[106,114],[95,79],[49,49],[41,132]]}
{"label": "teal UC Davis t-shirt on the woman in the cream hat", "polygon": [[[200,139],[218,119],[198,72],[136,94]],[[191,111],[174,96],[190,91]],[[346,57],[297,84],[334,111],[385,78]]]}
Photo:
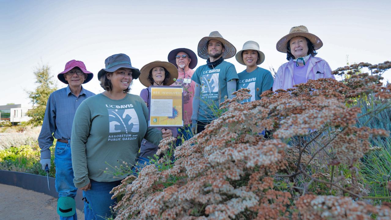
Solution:
{"label": "teal UC Davis t-shirt on the woman in the cream hat", "polygon": [[261,99],[262,92],[269,90],[273,87],[273,76],[269,70],[265,70],[261,67],[257,67],[252,72],[238,73],[239,80],[237,81],[237,90],[240,88],[248,88],[250,90],[251,98],[242,101],[250,102]]}

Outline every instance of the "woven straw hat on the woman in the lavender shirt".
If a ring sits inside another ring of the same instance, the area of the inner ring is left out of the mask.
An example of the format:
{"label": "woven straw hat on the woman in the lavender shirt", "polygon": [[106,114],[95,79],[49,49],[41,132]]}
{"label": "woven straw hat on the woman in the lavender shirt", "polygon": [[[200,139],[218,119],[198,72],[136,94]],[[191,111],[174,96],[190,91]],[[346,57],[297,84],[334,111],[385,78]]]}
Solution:
{"label": "woven straw hat on the woman in the lavender shirt", "polygon": [[307,27],[304,25],[292,27],[289,34],[283,36],[276,45],[278,51],[286,53],[287,52],[287,43],[294,37],[301,36],[305,37],[314,44],[314,50],[318,50],[323,46],[323,42],[318,38],[315,34],[311,34],[308,32]]}

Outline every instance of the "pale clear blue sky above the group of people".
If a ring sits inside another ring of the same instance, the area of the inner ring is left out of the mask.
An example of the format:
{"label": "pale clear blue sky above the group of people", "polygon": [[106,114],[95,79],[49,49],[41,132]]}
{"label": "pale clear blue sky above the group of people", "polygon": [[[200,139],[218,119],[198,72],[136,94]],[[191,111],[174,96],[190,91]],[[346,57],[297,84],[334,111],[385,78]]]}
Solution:
{"label": "pale clear blue sky above the group of people", "polygon": [[[310,4],[309,4],[310,3]],[[254,40],[265,54],[265,69],[285,63],[277,41],[297,25],[323,41],[319,57],[332,69],[350,63],[391,60],[390,1],[23,1],[0,0],[0,105],[29,104],[34,69],[41,63],[57,74],[69,60],[82,60],[95,74],[84,87],[102,92],[97,72],[117,53],[133,66],[167,61],[172,49],[197,53],[201,38],[219,31],[237,50]],[[198,65],[206,60],[198,58]],[[233,63],[237,72],[245,66]],[[384,74],[391,81],[391,73]],[[135,80],[131,93],[143,86]]]}

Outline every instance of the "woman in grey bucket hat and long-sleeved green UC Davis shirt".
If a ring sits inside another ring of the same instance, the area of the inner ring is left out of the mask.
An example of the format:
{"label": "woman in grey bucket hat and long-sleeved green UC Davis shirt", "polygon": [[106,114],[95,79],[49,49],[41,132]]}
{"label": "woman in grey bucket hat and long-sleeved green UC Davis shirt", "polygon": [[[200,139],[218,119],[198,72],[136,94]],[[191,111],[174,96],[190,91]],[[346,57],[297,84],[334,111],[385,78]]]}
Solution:
{"label": "woman in grey bucket hat and long-sleeved green UC Davis shirt", "polygon": [[[77,108],[71,139],[74,184],[85,191],[97,220],[115,217],[110,207],[117,199],[111,199],[110,191],[121,181],[113,179],[111,172],[115,170],[107,172],[107,167],[122,161],[133,166],[143,138],[159,144],[172,135],[170,130],[147,128],[147,106],[140,96],[128,93],[133,79],[140,76],[129,56],[109,56],[105,66],[98,73],[105,91]],[[117,177],[124,179],[126,175]]]}

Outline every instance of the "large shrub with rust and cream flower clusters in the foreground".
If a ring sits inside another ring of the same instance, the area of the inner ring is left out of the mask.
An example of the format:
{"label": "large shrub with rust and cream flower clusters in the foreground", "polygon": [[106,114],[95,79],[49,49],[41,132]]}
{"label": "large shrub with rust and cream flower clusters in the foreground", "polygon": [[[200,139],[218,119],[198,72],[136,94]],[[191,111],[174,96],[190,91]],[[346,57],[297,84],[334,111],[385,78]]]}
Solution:
{"label": "large shrub with rust and cream flower clusters in the foreground", "polygon": [[[356,127],[361,110],[348,105],[355,98],[375,94],[389,108],[391,86],[359,73],[363,67],[381,74],[391,63],[339,68],[333,73],[348,76],[343,82],[309,80],[249,103],[240,104],[248,89],[235,92],[221,117],[176,148],[171,168],[148,165],[113,189],[113,197],[124,194],[116,219],[391,218],[388,207],[360,200],[365,190],[353,166],[370,150],[369,138],[389,135]],[[267,139],[259,135],[265,128]],[[162,140],[159,153],[171,141]],[[339,164],[351,171],[349,181],[334,172]],[[320,191],[326,195],[314,195]]]}

